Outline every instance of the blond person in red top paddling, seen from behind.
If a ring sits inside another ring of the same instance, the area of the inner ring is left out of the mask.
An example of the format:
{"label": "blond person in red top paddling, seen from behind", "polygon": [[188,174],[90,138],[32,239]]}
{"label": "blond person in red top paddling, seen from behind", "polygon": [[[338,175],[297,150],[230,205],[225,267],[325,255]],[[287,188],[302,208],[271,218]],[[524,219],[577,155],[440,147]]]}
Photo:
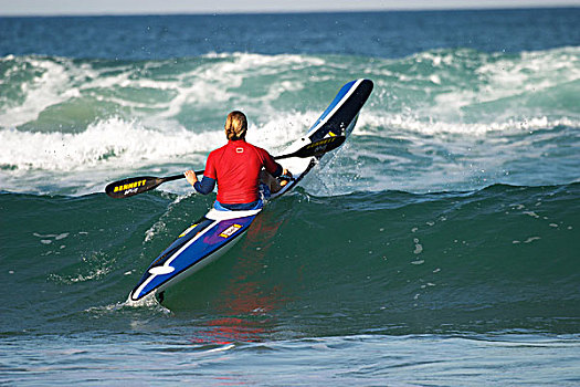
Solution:
{"label": "blond person in red top paddling, seen from behind", "polygon": [[[210,153],[203,178],[198,180],[193,170],[186,171],[186,178],[196,191],[208,195],[218,184],[219,210],[250,210],[263,206],[267,199],[287,182],[276,178],[292,177],[265,150],[245,140],[247,118],[242,112],[231,112],[225,119],[228,144]],[[262,194],[262,195],[261,195]]]}

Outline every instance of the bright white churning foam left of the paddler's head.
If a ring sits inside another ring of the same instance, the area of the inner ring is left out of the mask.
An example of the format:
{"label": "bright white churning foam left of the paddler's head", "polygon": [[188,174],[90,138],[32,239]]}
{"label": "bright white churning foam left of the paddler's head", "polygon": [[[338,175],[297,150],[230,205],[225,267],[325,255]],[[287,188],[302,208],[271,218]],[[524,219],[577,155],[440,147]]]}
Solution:
{"label": "bright white churning foam left of the paddler's head", "polygon": [[[165,132],[146,128],[137,122],[110,118],[71,133],[0,129],[0,165],[19,170],[89,170],[115,164],[140,165],[148,161],[194,160],[219,144],[222,133],[194,134],[183,128]],[[211,145],[210,145],[211,144]]]}

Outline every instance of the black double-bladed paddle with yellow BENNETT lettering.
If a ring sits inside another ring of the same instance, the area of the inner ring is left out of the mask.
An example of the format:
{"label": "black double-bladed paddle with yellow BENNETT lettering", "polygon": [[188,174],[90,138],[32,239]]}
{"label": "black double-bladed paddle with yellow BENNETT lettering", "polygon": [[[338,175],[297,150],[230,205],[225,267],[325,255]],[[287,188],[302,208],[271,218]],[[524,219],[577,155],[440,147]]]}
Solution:
{"label": "black double-bladed paddle with yellow BENNETT lettering", "polygon": [[[275,160],[291,157],[312,157],[312,156],[321,156],[327,151],[338,148],[345,142],[345,136],[334,136],[319,139],[317,142],[310,143],[303,146],[296,151],[293,151],[287,155],[276,156]],[[196,175],[203,174],[203,170],[196,170]],[[184,179],[183,174],[168,176],[168,177],[155,177],[155,176],[139,176],[139,177],[129,177],[127,179],[118,180],[110,182],[105,187],[105,192],[114,198],[122,199],[128,198],[129,196],[143,194],[159,187],[161,184],[178,179]]]}

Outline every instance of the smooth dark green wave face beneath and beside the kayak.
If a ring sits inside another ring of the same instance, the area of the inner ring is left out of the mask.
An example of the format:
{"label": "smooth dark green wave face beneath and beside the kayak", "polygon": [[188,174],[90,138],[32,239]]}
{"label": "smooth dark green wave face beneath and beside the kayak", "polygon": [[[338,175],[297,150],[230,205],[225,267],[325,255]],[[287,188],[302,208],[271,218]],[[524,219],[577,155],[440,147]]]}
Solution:
{"label": "smooth dark green wave face beneath and beside the kayak", "polygon": [[[167,194],[0,200],[6,221],[19,224],[3,242],[4,283],[15,304],[32,306],[8,313],[27,314],[38,332],[52,325],[46,320],[98,315],[95,300],[118,302],[140,268],[211,205]],[[268,318],[272,335],[574,333],[579,203],[578,184],[335,197],[300,190],[272,203],[231,253],[168,291],[165,304],[187,318]],[[32,258],[23,260],[23,249]],[[45,314],[35,314],[44,303]],[[3,334],[12,332],[6,321]]]}

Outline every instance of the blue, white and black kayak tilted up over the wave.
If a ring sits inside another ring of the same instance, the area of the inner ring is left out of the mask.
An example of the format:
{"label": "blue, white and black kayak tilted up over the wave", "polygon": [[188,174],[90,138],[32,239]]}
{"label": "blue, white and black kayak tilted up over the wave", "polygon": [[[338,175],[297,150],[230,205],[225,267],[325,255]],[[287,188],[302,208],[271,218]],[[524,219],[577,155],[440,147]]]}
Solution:
{"label": "blue, white and black kayak tilted up over the wave", "polygon": [[[293,142],[285,153],[292,154],[312,143],[324,143],[324,139],[329,137],[348,137],[372,87],[370,80],[356,80],[345,84],[306,135]],[[289,157],[278,161],[292,172],[293,178],[278,192],[273,194],[268,201],[291,191],[315,166],[328,159],[330,157],[320,154]],[[130,292],[129,301],[140,301],[150,295],[162,299],[162,292],[167,287],[228,252],[242,239],[261,211],[263,208],[245,211],[209,210],[151,262]]]}

